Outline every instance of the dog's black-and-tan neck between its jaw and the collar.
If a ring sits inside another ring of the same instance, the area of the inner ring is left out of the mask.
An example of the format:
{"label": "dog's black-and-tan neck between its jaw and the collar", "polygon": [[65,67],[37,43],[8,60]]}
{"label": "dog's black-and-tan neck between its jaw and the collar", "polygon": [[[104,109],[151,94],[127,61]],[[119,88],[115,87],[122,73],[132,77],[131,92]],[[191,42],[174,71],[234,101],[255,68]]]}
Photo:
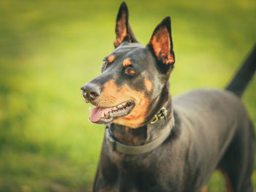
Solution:
{"label": "dog's black-and-tan neck between its jaw and the collar", "polygon": [[[160,98],[158,100],[161,101],[162,99]],[[162,133],[162,130],[165,128],[165,126],[169,125],[171,118],[173,118],[173,105],[169,93],[167,93],[167,100],[165,99],[164,101],[165,102],[154,104],[156,109],[151,111],[155,114],[159,112],[161,107],[165,106],[167,110],[167,115],[165,118],[158,120],[157,123],[154,124],[151,124],[149,120],[146,125],[139,128],[129,128],[127,126],[121,126],[112,123],[110,125],[110,132],[112,136],[118,142],[130,146],[144,145],[159,137],[159,135]]]}

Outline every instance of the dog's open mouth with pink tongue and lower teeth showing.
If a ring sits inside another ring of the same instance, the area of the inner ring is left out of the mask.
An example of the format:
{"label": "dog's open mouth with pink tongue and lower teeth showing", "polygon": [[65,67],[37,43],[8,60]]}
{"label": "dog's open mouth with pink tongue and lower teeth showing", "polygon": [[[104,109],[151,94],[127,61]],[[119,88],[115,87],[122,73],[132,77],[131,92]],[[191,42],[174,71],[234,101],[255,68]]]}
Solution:
{"label": "dog's open mouth with pink tongue and lower teeth showing", "polygon": [[94,107],[91,109],[89,120],[92,123],[107,124],[117,118],[128,115],[135,107],[133,101],[126,101],[118,104],[116,107]]}

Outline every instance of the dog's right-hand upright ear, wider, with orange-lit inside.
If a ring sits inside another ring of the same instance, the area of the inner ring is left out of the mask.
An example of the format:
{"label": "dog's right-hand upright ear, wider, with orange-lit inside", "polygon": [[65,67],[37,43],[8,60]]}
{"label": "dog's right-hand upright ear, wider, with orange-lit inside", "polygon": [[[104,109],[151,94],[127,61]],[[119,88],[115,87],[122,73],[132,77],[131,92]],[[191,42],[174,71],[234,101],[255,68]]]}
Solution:
{"label": "dog's right-hand upright ear, wider, with orange-lit inside", "polygon": [[173,67],[175,56],[173,52],[173,39],[171,37],[170,17],[162,20],[155,28],[147,47],[153,50],[158,60],[167,66]]}

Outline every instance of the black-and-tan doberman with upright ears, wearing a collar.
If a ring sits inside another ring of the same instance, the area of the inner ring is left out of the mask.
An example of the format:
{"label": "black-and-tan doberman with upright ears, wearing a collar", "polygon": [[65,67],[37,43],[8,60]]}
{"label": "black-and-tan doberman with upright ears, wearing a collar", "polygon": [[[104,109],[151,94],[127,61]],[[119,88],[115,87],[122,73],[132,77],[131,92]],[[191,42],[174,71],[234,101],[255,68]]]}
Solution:
{"label": "black-and-tan doberman with upright ears, wearing a collar", "polygon": [[144,47],[123,2],[114,46],[102,74],[81,88],[95,105],[89,120],[106,125],[93,191],[203,191],[214,170],[227,191],[252,191],[255,132],[241,96],[255,73],[256,48],[225,90],[171,99],[170,17]]}

